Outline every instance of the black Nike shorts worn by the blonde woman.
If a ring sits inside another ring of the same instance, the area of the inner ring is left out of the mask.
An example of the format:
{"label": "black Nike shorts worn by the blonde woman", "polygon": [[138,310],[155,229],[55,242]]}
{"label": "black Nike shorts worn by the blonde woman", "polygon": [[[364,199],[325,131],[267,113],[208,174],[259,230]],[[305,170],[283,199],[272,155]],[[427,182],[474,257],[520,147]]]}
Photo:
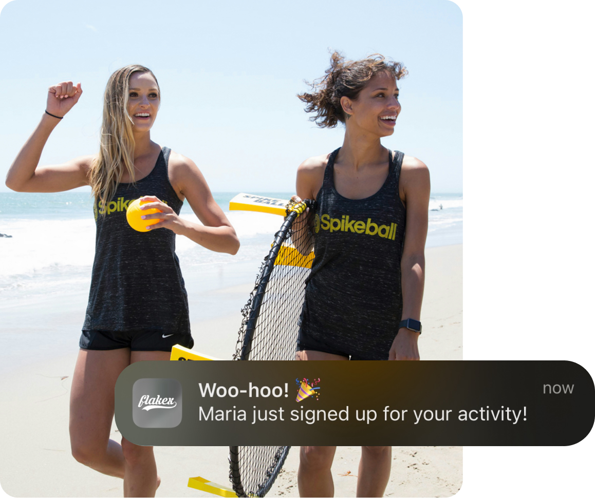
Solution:
{"label": "black Nike shorts worn by the blonde woman", "polygon": [[101,351],[120,348],[130,348],[131,351],[171,351],[172,346],[176,344],[192,349],[194,339],[190,334],[167,334],[155,330],[83,330],[79,341],[79,347],[82,349]]}

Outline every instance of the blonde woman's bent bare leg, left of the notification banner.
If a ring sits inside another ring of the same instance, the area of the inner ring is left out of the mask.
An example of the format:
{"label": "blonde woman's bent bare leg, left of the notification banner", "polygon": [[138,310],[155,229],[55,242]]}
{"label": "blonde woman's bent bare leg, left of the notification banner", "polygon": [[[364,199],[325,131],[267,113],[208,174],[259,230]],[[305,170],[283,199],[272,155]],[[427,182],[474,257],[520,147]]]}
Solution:
{"label": "blonde woman's bent bare leg, left of the notification banner", "polygon": [[124,456],[109,439],[115,382],[130,364],[130,349],[81,349],[70,392],[70,446],[77,461],[103,474],[124,478]]}

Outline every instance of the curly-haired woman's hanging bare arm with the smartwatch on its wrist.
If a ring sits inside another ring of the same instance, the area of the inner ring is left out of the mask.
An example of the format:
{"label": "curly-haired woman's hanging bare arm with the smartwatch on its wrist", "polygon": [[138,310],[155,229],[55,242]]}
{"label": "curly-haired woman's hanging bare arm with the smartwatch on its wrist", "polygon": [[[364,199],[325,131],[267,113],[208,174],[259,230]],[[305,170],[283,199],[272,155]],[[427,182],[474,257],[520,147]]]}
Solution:
{"label": "curly-haired woman's hanging bare arm with the smartwatch on its wrist", "polygon": [[[405,244],[401,256],[402,320],[419,320],[424,297],[425,238],[428,234],[430,172],[415,157],[405,156],[399,190],[406,206]],[[389,360],[419,360],[418,332],[403,327],[397,332]]]}

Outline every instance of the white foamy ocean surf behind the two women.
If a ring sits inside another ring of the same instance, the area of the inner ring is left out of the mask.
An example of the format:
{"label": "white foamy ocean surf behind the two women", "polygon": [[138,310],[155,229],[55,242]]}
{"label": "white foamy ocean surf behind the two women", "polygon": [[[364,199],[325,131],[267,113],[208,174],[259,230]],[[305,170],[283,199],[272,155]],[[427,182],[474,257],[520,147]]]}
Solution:
{"label": "white foamy ocean surf behind the two women", "polygon": [[[435,234],[441,229],[458,223],[462,225],[462,203],[462,196],[432,197],[428,213],[428,232]],[[440,204],[442,209],[439,207]],[[274,234],[283,223],[283,217],[268,213],[227,211],[225,214],[240,239],[239,252],[235,256],[215,253],[189,238],[177,237],[176,252],[182,269],[184,265],[260,261],[268,253]],[[43,213],[40,212],[40,215],[43,216]],[[192,212],[183,212],[181,218],[201,223]],[[90,275],[95,256],[95,220],[93,218],[1,219],[0,232],[12,236],[0,238],[0,258],[2,259],[0,278],[18,277],[17,280],[10,282],[5,278],[0,279],[0,290],[24,291],[27,285],[36,285],[29,282],[28,278],[37,276],[39,279],[45,276],[45,279],[52,279],[67,275],[73,272],[73,269],[77,269],[76,272],[80,275]]]}

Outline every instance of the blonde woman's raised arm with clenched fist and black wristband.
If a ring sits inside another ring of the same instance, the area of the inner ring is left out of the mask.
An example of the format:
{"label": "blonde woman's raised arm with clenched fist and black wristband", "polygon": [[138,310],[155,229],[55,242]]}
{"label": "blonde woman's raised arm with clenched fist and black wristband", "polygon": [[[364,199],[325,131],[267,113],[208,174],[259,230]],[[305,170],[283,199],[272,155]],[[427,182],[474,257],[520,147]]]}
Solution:
{"label": "blonde woman's raised arm with clenched fist and black wristband", "polygon": [[[46,111],[64,116],[79,101],[83,90],[80,83],[64,81],[48,89]],[[21,148],[8,170],[6,185],[17,192],[60,192],[88,185],[87,171],[92,156],[77,157],[67,163],[37,168],[39,158],[52,130],[61,119],[45,112],[33,134]]]}

